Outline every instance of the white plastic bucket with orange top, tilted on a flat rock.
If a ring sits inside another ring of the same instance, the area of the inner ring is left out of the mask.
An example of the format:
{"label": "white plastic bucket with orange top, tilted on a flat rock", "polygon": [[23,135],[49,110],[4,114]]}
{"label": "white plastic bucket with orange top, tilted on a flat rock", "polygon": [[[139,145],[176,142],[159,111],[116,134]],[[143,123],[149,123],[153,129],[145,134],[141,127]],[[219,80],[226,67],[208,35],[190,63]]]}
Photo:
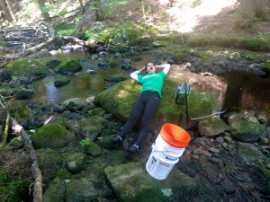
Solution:
{"label": "white plastic bucket with orange top, tilted on a flat rock", "polygon": [[190,136],[181,127],[165,124],[152,145],[152,153],[146,163],[148,174],[157,180],[165,180],[184,153]]}

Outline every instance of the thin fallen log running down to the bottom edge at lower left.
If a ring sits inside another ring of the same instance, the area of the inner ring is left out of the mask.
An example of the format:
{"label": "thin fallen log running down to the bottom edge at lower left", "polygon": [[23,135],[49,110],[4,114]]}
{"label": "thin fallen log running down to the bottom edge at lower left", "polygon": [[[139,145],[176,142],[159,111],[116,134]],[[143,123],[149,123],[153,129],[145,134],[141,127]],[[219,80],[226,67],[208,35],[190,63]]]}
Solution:
{"label": "thin fallen log running down to the bottom edge at lower left", "polygon": [[37,161],[37,154],[31,145],[31,139],[25,133],[22,126],[18,124],[18,122],[11,117],[13,129],[15,132],[19,133],[24,142],[24,147],[29,151],[31,157],[31,173],[34,179],[33,182],[33,201],[34,202],[42,202],[42,175]]}

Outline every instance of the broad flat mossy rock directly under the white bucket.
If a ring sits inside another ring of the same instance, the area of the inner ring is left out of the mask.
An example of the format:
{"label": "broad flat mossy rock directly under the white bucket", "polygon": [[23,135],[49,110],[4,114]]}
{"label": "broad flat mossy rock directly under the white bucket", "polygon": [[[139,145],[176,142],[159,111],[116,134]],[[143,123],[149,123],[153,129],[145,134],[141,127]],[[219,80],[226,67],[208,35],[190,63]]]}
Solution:
{"label": "broad flat mossy rock directly under the white bucket", "polygon": [[104,171],[119,201],[164,202],[172,198],[176,189],[182,194],[181,200],[190,201],[198,189],[196,180],[177,169],[166,180],[148,175],[145,164],[140,162],[109,166]]}

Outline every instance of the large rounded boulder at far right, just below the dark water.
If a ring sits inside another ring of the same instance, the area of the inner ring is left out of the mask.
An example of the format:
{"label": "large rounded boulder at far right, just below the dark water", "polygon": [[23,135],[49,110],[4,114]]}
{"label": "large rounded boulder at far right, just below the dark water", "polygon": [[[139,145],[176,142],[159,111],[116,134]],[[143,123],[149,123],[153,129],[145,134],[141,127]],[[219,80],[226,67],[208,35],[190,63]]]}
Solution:
{"label": "large rounded boulder at far right, just below the dark water", "polygon": [[229,126],[234,130],[232,136],[246,143],[255,143],[264,135],[265,126],[248,112],[240,112],[229,116]]}

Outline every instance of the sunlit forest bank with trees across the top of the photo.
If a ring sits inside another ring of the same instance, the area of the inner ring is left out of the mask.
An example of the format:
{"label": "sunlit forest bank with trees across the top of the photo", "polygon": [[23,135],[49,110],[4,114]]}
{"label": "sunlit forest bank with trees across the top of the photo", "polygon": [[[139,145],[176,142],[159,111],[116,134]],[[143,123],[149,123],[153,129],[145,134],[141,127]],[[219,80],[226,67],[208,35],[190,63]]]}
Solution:
{"label": "sunlit forest bank with trees across the top of the photo", "polygon": [[[106,41],[117,29],[135,27],[137,35],[178,31],[269,34],[267,0],[1,0],[1,27],[49,22],[57,34],[85,34]],[[136,36],[134,36],[136,37]]]}

